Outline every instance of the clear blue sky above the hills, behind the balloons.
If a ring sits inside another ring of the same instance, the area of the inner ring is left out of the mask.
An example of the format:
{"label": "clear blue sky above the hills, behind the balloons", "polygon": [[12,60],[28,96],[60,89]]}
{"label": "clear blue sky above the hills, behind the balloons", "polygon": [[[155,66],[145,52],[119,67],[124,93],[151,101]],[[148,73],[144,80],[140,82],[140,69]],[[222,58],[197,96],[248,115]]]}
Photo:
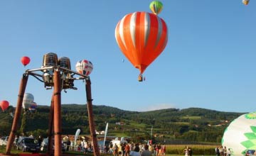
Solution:
{"label": "clear blue sky above the hills, behind the balloons", "polygon": [[[256,1],[162,0],[159,16],[169,28],[164,52],[139,71],[122,55],[114,38],[127,13],[148,11],[149,0],[0,1],[0,99],[16,106],[26,69],[41,67],[43,55],[69,57],[72,69],[90,60],[92,104],[127,111],[209,108],[256,111]],[[23,56],[31,58],[27,67]],[[124,60],[124,62],[122,61]],[[62,104],[85,104],[85,83],[62,92]],[[49,105],[53,90],[28,78],[26,92]]]}

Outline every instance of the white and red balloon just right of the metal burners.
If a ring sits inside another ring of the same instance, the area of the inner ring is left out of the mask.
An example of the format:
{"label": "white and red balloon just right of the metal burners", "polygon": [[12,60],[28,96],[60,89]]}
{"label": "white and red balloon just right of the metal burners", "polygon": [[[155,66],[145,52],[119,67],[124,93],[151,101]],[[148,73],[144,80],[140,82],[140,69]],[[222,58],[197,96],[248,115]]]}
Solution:
{"label": "white and red balloon just right of the metal burners", "polygon": [[92,72],[93,65],[92,62],[88,60],[80,60],[75,65],[75,69],[80,74],[85,74],[85,76],[89,76],[89,74]]}

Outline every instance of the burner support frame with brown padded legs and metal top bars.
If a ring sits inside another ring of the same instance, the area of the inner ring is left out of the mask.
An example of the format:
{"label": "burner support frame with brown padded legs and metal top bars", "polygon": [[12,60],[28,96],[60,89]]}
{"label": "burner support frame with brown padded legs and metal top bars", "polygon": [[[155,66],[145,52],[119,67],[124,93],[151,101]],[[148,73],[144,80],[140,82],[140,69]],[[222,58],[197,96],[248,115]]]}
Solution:
{"label": "burner support frame with brown padded legs and metal top bars", "polygon": [[[51,70],[53,75],[51,77],[51,84],[47,84],[46,78],[44,77],[44,73],[47,70]],[[37,72],[44,72],[43,74],[38,74]],[[65,77],[65,75],[69,74],[69,77]],[[75,78],[73,77],[75,74],[79,75],[80,77]],[[92,94],[91,94],[91,82],[90,77],[85,76],[84,74],[80,74],[78,72],[74,72],[71,69],[67,69],[65,67],[51,66],[51,67],[41,67],[39,69],[28,69],[23,74],[20,82],[20,88],[18,91],[18,101],[16,106],[16,111],[14,114],[14,121],[11,128],[11,133],[9,135],[9,141],[6,145],[6,155],[11,154],[11,147],[14,143],[14,138],[16,135],[16,130],[18,126],[18,119],[21,116],[21,109],[23,103],[23,95],[26,90],[26,84],[28,82],[28,76],[31,75],[36,77],[41,82],[45,82],[45,87],[50,86],[50,88],[46,89],[53,89],[53,95],[50,102],[50,115],[49,115],[49,125],[48,125],[48,155],[53,155],[53,150],[50,148],[52,147],[53,143],[53,135],[54,135],[54,142],[55,142],[55,150],[54,155],[60,156],[62,155],[61,152],[61,134],[62,134],[62,126],[61,126],[61,91],[64,89],[76,89],[73,87],[74,80],[85,80],[85,91],[86,91],[86,98],[87,98],[87,111],[88,111],[88,118],[89,118],[89,125],[90,125],[90,135],[92,138],[92,145],[93,145],[93,153],[95,156],[100,155],[99,147],[97,145],[97,135],[95,133],[95,124],[93,119],[92,113]],[[43,80],[42,80],[43,79]]]}

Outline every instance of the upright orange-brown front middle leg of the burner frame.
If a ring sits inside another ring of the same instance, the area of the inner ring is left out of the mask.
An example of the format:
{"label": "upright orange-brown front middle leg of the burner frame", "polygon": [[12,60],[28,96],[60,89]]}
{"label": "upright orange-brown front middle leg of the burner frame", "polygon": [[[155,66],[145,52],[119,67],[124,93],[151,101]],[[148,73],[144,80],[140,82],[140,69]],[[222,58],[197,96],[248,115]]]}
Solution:
{"label": "upright orange-brown front middle leg of the burner frame", "polygon": [[60,89],[60,71],[55,69],[53,74],[53,81],[54,81],[54,155],[60,156],[62,155],[61,152],[61,89]]}

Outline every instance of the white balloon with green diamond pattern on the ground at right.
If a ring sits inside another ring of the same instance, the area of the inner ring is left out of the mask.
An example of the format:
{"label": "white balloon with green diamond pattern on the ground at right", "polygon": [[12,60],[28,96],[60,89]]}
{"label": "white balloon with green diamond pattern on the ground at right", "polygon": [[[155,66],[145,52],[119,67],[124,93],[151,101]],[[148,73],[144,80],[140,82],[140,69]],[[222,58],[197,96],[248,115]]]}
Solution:
{"label": "white balloon with green diamond pattern on the ground at right", "polygon": [[233,155],[245,155],[246,150],[256,149],[256,112],[239,116],[225,129],[223,147],[230,148]]}

